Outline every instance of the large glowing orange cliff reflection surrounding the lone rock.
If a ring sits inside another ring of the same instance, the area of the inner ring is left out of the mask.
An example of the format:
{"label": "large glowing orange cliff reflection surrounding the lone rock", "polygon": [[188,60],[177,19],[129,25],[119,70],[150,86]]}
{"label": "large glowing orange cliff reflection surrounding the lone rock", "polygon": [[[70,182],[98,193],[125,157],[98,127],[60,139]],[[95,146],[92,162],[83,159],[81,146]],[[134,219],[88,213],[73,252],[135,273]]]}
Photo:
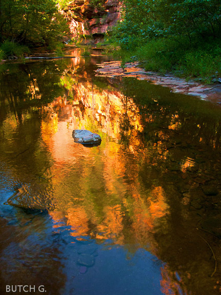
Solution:
{"label": "large glowing orange cliff reflection surrounding the lone rock", "polygon": [[[167,153],[163,140],[168,135],[159,133],[157,145],[144,148],[138,136],[144,123],[132,99],[114,89],[99,90],[88,81],[73,87],[73,101],[54,103],[57,121],[52,117],[51,123],[45,122],[48,130],[44,124],[42,127],[42,138],[59,166],[59,177],[53,178],[56,209],[64,212],[50,214],[57,222],[65,220],[71,226],[70,234],[78,239],[91,235],[118,245],[142,245],[156,254],[154,232],[169,213],[169,206],[162,187],[142,191],[137,159],[156,165],[152,154],[159,158]],[[149,120],[154,120],[151,115]],[[74,143],[73,129],[99,132],[101,146],[88,149]],[[118,144],[120,132],[128,139],[127,149]],[[75,169],[79,168],[78,174]],[[70,181],[76,191],[74,197],[66,186]]]}

